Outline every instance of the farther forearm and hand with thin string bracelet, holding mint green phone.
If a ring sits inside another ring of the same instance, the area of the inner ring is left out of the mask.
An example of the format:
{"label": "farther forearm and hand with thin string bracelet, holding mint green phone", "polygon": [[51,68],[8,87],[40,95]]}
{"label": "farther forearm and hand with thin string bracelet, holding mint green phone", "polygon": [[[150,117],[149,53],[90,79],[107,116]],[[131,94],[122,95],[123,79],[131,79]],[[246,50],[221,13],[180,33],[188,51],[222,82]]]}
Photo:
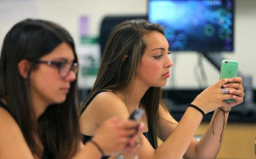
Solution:
{"label": "farther forearm and hand with thin string bracelet, holding mint green phone", "polygon": [[[225,87],[229,90],[228,98],[233,98],[233,103],[224,103],[223,110],[230,110],[231,107],[243,102],[244,97],[244,88],[241,85],[242,80],[240,77],[234,78],[235,83],[228,83]],[[223,95],[226,96],[226,95]],[[194,101],[193,101],[194,103]],[[221,105],[220,105],[221,106]],[[219,113],[218,113],[219,112]],[[224,130],[227,124],[227,118],[229,113],[224,113],[219,109],[215,110],[213,113],[213,118],[209,123],[209,127],[206,130],[206,133],[202,136],[199,144],[196,144],[197,141],[193,140],[191,147],[189,147],[188,155],[185,156],[195,156],[196,158],[215,158],[218,152],[220,151],[220,146],[222,144],[222,138],[224,134]],[[214,121],[214,125],[213,125]],[[213,135],[214,131],[214,135]],[[190,155],[189,155],[190,154]]]}

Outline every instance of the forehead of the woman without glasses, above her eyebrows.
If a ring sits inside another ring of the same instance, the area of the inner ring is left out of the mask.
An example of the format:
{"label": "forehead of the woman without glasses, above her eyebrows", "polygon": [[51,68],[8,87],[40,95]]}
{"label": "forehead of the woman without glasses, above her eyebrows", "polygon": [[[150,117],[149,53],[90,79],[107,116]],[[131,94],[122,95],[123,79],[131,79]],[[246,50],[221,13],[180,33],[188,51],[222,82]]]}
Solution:
{"label": "forehead of the woman without glasses, above her eyebrows", "polygon": [[147,45],[146,50],[152,50],[156,48],[168,49],[169,44],[164,35],[161,32],[153,31],[144,35],[144,42]]}

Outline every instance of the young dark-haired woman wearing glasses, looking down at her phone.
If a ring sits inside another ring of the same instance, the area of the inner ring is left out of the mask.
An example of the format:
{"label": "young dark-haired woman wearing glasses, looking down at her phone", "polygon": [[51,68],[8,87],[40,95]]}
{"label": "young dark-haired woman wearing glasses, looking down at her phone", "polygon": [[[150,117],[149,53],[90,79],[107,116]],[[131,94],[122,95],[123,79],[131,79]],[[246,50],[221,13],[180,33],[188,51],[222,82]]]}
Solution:
{"label": "young dark-haired woman wearing glasses, looking down at her phone", "polygon": [[142,127],[116,117],[81,143],[78,57],[69,33],[26,19],[5,36],[0,59],[0,159],[100,158],[136,154]]}

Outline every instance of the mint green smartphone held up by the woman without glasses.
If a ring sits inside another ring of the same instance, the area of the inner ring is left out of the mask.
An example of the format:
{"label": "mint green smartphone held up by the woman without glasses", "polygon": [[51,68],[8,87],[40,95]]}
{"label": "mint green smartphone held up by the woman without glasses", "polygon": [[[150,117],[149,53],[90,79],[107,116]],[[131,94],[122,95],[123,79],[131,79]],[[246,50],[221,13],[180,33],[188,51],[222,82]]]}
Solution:
{"label": "mint green smartphone held up by the woman without glasses", "polygon": [[[237,76],[238,63],[234,60],[223,59],[220,68],[220,80]],[[224,100],[226,102],[233,102],[234,99]]]}

